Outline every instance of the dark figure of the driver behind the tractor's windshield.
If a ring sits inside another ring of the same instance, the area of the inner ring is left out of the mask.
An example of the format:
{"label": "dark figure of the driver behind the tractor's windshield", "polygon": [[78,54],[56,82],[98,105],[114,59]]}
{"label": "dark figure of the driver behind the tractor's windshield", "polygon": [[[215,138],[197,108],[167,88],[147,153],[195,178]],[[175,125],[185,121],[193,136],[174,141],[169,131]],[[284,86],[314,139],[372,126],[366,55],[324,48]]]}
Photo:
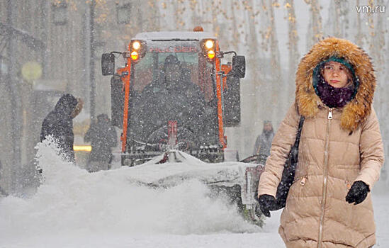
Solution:
{"label": "dark figure of the driver behind the tractor's windshield", "polygon": [[133,113],[135,128],[141,129],[136,133],[148,137],[148,142],[154,141],[150,135],[167,125],[169,120],[177,120],[179,127],[189,125],[198,130],[197,126],[201,126],[205,118],[203,93],[188,80],[188,74],[176,56],[167,56],[160,76],[157,84],[150,84],[142,91],[135,103],[137,111]]}

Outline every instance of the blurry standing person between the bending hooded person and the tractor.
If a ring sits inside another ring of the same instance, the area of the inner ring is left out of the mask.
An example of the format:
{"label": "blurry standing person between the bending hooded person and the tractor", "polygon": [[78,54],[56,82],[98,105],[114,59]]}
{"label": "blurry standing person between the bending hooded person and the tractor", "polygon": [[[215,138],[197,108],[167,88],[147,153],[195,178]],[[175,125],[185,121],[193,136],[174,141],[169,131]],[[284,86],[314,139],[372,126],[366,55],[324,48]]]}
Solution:
{"label": "blurry standing person between the bending hooded person and the tractor", "polygon": [[110,169],[112,161],[111,147],[118,144],[116,130],[108,115],[97,116],[97,123],[92,123],[84,137],[85,142],[91,142],[92,152],[89,157],[88,171]]}

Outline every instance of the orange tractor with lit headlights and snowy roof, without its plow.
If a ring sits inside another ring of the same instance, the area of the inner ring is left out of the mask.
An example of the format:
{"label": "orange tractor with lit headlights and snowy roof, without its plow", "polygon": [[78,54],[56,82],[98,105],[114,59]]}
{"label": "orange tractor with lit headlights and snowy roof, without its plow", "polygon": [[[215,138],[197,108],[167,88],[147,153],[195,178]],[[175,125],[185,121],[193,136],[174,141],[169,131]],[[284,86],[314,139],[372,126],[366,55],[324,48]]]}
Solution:
{"label": "orange tractor with lit headlights and snowy roof, without its plow", "polygon": [[[222,64],[230,54],[232,62]],[[115,70],[120,55],[125,65]],[[245,67],[244,56],[222,52],[214,35],[196,31],[139,33],[127,51],[103,54],[102,73],[113,75],[112,122],[123,128],[122,165],[171,150],[222,162],[225,127],[240,123]]]}

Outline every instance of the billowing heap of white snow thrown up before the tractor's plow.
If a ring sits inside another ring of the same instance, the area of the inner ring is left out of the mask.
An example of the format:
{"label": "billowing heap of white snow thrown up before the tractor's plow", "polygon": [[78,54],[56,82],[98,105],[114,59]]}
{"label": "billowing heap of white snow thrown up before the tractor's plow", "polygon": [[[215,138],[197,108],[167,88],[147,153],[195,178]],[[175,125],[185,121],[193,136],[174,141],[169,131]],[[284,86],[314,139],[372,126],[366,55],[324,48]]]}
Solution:
{"label": "billowing heap of white snow thrown up before the tractor's plow", "polygon": [[123,235],[258,231],[225,199],[209,198],[208,188],[196,180],[150,188],[134,184],[130,168],[89,174],[62,162],[52,142],[38,145],[38,164],[43,183],[34,196],[0,201],[0,240],[107,230]]}

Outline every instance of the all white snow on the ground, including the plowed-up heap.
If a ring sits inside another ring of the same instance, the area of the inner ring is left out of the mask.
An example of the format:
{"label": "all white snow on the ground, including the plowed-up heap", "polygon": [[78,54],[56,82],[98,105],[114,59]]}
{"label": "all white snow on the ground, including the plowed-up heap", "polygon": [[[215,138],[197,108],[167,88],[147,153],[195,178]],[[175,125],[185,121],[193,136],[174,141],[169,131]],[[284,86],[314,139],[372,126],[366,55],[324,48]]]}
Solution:
{"label": "all white snow on the ground, including the plowed-up heap", "polygon": [[[40,154],[45,181],[38,191],[0,200],[0,247],[284,247],[281,211],[261,229],[225,199],[209,198],[196,179],[150,188],[134,183],[140,169],[89,174],[61,162],[50,147]],[[376,247],[389,247],[388,193],[373,195],[373,202]]]}

